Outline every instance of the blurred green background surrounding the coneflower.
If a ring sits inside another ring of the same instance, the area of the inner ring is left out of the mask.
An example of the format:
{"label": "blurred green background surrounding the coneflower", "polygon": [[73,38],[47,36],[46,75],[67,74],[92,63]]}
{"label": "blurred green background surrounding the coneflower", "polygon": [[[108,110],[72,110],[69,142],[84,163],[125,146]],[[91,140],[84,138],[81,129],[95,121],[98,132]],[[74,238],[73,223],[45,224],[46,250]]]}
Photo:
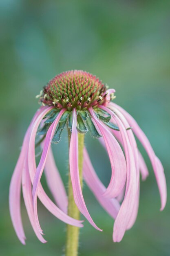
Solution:
{"label": "blurred green background surrounding the coneflower", "polygon": [[[9,182],[26,128],[42,86],[56,74],[82,69],[116,89],[115,102],[138,121],[165,168],[168,203],[160,199],[149,159],[150,176],[141,182],[137,221],[121,243],[113,243],[113,220],[84,185],[87,207],[99,227],[86,221],[81,229],[81,256],[170,255],[170,1],[146,0],[0,0],[0,255],[54,256],[64,253],[65,225],[39,204],[40,223],[48,243],[35,237],[22,200],[26,246],[11,224]],[[91,137],[86,144],[104,184],[110,164],[102,146]],[[53,146],[67,184],[66,133]],[[42,182],[46,188],[44,177]],[[48,190],[47,190],[48,191]]]}

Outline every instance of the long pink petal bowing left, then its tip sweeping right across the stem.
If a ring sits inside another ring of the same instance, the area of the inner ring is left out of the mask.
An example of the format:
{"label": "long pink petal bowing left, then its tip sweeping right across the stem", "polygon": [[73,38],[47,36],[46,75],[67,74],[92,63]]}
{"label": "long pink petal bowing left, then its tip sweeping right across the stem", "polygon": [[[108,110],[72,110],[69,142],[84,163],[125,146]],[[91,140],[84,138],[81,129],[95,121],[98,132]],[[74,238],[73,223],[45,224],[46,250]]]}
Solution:
{"label": "long pink petal bowing left, then its tip sweeping right across the stem", "polygon": [[[53,107],[50,107],[53,108]],[[49,110],[47,110],[49,111]],[[46,112],[42,113],[33,123],[33,126],[31,127],[31,133],[30,133],[30,139],[29,139],[29,150],[28,150],[28,163],[29,163],[29,173],[31,182],[33,183],[35,171],[36,171],[36,162],[35,162],[35,136],[38,130],[38,126],[40,125],[44,115],[46,115]],[[42,188],[41,183],[39,183],[38,187],[38,197],[42,204],[48,209],[56,218],[59,218],[60,220],[66,222],[67,224],[74,225],[77,227],[83,227],[81,220],[75,220],[68,215],[66,215],[63,211],[61,211],[46,195],[44,189]],[[38,225],[38,220],[36,221],[36,224]],[[40,225],[38,225],[40,229]],[[40,229],[40,231],[42,231]]]}

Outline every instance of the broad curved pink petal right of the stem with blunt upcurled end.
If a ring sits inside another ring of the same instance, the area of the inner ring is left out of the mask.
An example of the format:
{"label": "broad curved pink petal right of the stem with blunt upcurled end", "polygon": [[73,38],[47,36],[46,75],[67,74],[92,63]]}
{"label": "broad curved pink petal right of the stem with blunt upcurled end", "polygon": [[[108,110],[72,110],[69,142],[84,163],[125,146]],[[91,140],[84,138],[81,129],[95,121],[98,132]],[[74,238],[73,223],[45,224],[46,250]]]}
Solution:
{"label": "broad curved pink petal right of the stem with blunt upcurled end", "polygon": [[97,119],[93,108],[89,108],[89,111],[95,121],[95,124],[103,135],[112,168],[110,184],[108,185],[104,195],[106,197],[115,198],[122,191],[126,182],[126,161],[124,153],[115,137],[102,124],[102,122]]}

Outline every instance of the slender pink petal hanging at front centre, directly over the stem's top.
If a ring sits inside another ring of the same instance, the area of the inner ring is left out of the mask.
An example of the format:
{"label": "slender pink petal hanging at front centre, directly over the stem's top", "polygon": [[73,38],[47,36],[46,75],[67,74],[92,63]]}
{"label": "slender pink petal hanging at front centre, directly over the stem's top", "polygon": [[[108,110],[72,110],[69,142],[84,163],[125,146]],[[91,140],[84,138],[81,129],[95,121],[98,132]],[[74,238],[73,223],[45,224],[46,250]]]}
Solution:
{"label": "slender pink petal hanging at front centre, directly over the stem's top", "polygon": [[73,124],[72,124],[70,149],[69,149],[69,164],[70,164],[70,176],[71,176],[71,183],[73,186],[73,196],[74,196],[75,204],[77,205],[79,211],[91,223],[91,225],[95,227],[95,229],[102,231],[93,222],[87,210],[86,204],[84,202],[83,194],[82,194],[81,184],[79,180],[77,113],[75,108],[73,109]]}

